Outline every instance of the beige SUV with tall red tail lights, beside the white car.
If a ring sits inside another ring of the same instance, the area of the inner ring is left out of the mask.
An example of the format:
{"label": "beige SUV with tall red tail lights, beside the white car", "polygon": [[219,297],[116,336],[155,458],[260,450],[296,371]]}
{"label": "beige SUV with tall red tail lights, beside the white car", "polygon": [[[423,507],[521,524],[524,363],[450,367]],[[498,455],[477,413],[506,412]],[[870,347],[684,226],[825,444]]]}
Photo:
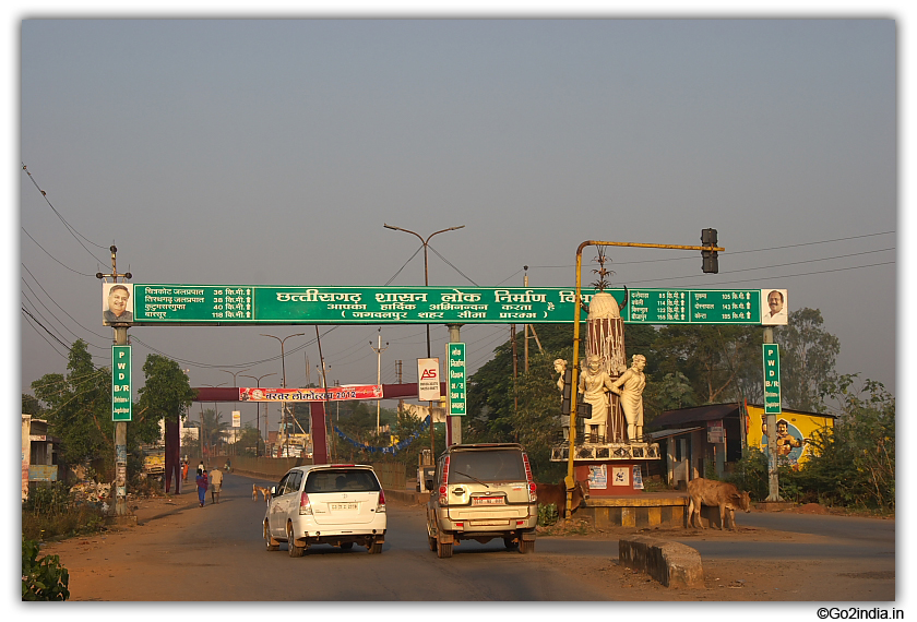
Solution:
{"label": "beige SUV with tall red tail lights, beside the white car", "polygon": [[508,549],[535,550],[538,498],[522,445],[453,445],[425,485],[430,491],[427,540],[438,557],[451,558],[461,540],[502,538]]}

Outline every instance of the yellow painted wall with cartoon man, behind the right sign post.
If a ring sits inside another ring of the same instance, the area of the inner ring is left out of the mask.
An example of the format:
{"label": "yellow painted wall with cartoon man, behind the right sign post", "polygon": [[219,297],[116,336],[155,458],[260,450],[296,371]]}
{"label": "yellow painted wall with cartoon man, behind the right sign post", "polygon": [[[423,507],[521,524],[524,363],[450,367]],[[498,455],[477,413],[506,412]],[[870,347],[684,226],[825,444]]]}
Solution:
{"label": "yellow painted wall with cartoon man, behind the right sign post", "polygon": [[[767,454],[767,421],[762,406],[748,405],[746,433],[749,447]],[[812,455],[810,440],[815,430],[834,427],[834,417],[784,410],[777,419],[777,457],[781,464],[798,469]]]}

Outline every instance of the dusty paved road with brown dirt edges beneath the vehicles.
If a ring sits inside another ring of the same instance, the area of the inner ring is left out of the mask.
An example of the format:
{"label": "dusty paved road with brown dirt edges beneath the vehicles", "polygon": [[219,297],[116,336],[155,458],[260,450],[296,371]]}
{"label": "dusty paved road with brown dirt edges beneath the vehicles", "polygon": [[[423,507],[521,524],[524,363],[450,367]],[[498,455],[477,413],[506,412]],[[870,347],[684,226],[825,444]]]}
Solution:
{"label": "dusty paved road with brown dirt edges beneath the vehicles", "polygon": [[[136,527],[52,542],[43,552],[61,557],[70,571],[71,600],[78,601],[895,600],[893,554],[885,560],[715,555],[704,559],[705,587],[692,590],[663,587],[617,563],[617,540],[638,533],[689,545],[801,546],[824,540],[819,535],[757,527],[740,527],[736,534],[555,529],[539,535],[533,555],[502,551],[492,542],[467,542],[456,548],[453,559],[438,560],[426,550],[422,507],[394,500],[389,501],[392,531],[383,554],[367,555],[359,547],[349,552],[317,547],[305,559],[289,559],[285,547],[272,553],[263,550],[258,523],[264,510],[263,502],[251,501],[253,481],[259,480],[228,476],[222,503],[211,505],[209,499],[203,509],[193,490],[171,499],[139,501],[133,504]],[[507,577],[512,577],[512,589],[503,589]]]}

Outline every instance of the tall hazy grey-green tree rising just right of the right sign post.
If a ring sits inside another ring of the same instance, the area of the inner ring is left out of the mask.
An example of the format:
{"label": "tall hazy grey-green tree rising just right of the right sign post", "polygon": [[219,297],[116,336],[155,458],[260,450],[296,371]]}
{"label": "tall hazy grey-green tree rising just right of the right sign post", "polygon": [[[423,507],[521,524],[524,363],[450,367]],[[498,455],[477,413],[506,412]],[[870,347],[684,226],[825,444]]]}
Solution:
{"label": "tall hazy grey-green tree rising just right of the right sign post", "polygon": [[781,399],[787,408],[818,412],[832,384],[841,340],[823,328],[818,309],[789,313],[786,326],[774,330],[781,352]]}

